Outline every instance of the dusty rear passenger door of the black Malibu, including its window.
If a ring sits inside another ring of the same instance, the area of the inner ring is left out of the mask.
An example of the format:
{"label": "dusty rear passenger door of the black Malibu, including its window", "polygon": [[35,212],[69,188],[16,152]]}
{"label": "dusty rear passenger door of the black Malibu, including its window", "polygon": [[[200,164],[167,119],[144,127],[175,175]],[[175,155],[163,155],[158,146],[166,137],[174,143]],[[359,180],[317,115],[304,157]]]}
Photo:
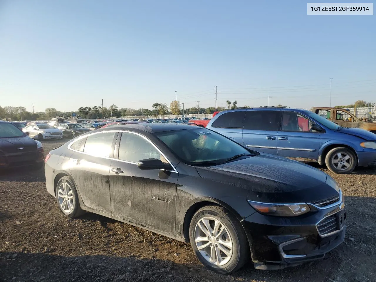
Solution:
{"label": "dusty rear passenger door of the black Malibu, including its window", "polygon": [[[111,214],[109,171],[116,132],[101,132],[72,144],[69,170],[85,206]],[[85,140],[84,146],[77,144]],[[80,152],[82,151],[83,152]]]}

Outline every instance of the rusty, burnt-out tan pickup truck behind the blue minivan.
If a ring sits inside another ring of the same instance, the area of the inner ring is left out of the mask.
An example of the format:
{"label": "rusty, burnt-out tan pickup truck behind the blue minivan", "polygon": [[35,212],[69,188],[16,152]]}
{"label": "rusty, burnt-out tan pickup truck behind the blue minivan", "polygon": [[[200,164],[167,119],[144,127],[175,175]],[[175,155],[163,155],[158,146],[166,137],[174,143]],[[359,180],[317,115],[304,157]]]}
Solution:
{"label": "rusty, burnt-out tan pickup truck behind the blue minivan", "polygon": [[347,109],[313,107],[311,108],[311,112],[321,115],[322,117],[327,118],[340,126],[365,129],[376,134],[376,123],[372,122],[371,120],[361,120],[347,111]]}

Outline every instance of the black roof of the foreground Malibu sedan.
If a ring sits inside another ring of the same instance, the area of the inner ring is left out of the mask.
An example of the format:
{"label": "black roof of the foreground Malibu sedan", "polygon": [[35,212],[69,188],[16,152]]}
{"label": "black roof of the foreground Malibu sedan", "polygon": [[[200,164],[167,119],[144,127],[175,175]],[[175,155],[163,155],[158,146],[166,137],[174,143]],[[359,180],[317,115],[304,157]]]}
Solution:
{"label": "black roof of the foreground Malibu sedan", "polygon": [[144,131],[149,133],[172,131],[172,130],[182,130],[182,129],[195,129],[191,125],[185,124],[174,124],[174,123],[133,123],[133,124],[124,124],[119,126],[111,126],[106,128],[101,128],[96,130],[106,131],[106,130],[131,130],[131,131]]}

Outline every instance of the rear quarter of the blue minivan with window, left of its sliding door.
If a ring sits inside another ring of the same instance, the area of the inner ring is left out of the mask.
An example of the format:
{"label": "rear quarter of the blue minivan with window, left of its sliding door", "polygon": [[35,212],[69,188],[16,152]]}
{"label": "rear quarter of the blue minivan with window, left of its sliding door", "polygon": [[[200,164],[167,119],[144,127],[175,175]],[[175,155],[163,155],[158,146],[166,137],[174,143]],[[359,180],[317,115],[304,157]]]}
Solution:
{"label": "rear quarter of the blue minivan with window, left of its sliding door", "polygon": [[246,111],[228,111],[219,115],[211,124],[211,129],[243,144],[243,124]]}

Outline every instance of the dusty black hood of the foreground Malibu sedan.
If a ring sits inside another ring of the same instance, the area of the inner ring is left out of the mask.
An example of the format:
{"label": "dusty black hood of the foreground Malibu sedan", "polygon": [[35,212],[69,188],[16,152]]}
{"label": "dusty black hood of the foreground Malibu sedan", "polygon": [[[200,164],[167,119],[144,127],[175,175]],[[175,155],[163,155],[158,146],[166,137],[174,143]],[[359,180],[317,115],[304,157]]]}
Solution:
{"label": "dusty black hood of the foreground Malibu sedan", "polygon": [[[210,167],[196,167],[201,177],[249,190],[248,199],[268,203],[316,202],[337,196],[337,183],[309,165],[261,153]],[[219,185],[219,183],[218,183]]]}

